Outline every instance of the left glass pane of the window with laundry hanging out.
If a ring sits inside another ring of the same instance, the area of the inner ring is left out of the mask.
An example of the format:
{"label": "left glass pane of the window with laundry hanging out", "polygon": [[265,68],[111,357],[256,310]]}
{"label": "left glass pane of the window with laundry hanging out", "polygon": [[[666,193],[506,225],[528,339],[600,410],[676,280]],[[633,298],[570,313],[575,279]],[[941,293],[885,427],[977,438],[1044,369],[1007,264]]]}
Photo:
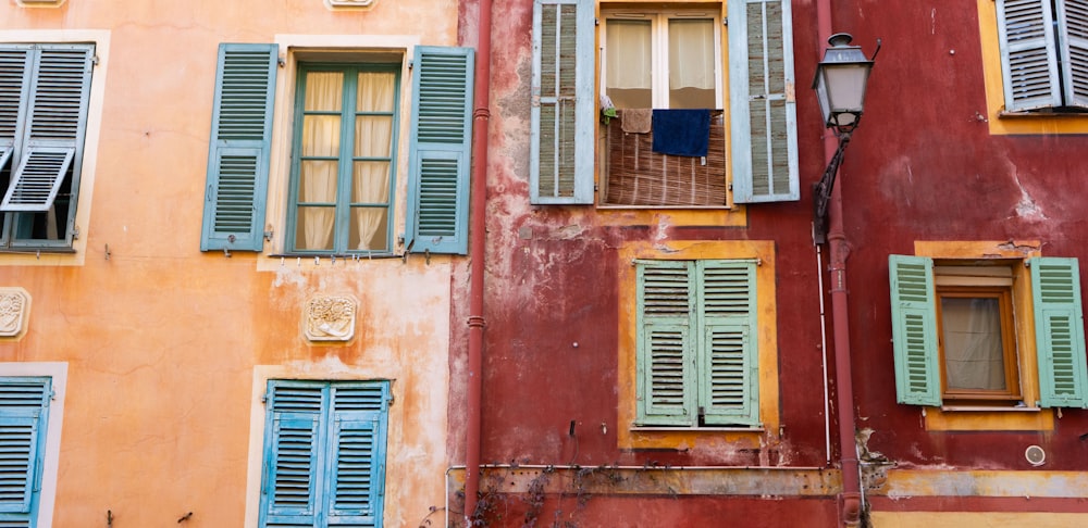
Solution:
{"label": "left glass pane of the window with laundry hanging out", "polygon": [[652,43],[650,21],[608,20],[605,93],[616,108],[654,105]]}

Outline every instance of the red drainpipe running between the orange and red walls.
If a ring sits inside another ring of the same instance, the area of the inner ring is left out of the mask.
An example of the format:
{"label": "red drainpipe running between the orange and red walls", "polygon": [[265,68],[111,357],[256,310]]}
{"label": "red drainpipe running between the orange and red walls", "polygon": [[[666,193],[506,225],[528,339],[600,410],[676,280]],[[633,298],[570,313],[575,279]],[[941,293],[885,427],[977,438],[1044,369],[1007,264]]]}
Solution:
{"label": "red drainpipe running between the orange and red walls", "polygon": [[487,204],[487,128],[491,123],[491,5],[492,0],[480,0],[477,22],[475,89],[472,100],[472,200],[469,221],[469,366],[468,418],[465,431],[465,525],[472,526],[480,490],[481,393],[483,391],[483,275],[485,208]]}

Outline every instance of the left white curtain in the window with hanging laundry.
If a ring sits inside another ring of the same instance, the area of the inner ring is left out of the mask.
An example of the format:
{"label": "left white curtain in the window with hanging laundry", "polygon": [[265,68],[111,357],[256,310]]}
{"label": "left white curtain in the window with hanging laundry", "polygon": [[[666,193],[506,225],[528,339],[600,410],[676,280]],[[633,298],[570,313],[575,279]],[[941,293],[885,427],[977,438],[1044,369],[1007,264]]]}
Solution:
{"label": "left white curtain in the window with hanging laundry", "polygon": [[608,50],[608,88],[650,89],[652,83],[652,33],[648,21],[609,20],[605,46]]}

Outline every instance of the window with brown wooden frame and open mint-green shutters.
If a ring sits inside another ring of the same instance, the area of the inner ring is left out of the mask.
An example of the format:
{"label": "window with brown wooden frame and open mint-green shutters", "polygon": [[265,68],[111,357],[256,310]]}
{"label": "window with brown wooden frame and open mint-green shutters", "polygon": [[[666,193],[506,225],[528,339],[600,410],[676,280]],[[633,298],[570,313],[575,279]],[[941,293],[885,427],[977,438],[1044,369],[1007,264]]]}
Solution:
{"label": "window with brown wooden frame and open mint-green shutters", "polygon": [[889,268],[900,403],[1088,407],[1076,259],[891,255]]}

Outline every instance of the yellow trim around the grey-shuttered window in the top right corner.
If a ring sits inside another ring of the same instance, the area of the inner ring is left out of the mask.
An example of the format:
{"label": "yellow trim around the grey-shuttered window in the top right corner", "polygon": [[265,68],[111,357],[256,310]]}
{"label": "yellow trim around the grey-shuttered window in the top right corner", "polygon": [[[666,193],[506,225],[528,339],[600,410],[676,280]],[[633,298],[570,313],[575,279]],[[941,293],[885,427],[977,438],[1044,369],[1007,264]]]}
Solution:
{"label": "yellow trim around the grey-shuttered window in the top right corner", "polygon": [[978,35],[982,46],[982,78],[986,85],[986,120],[992,135],[1085,134],[1088,114],[1038,115],[1003,114],[1004,81],[1001,77],[1001,51],[998,47],[998,8],[994,0],[978,3]]}

